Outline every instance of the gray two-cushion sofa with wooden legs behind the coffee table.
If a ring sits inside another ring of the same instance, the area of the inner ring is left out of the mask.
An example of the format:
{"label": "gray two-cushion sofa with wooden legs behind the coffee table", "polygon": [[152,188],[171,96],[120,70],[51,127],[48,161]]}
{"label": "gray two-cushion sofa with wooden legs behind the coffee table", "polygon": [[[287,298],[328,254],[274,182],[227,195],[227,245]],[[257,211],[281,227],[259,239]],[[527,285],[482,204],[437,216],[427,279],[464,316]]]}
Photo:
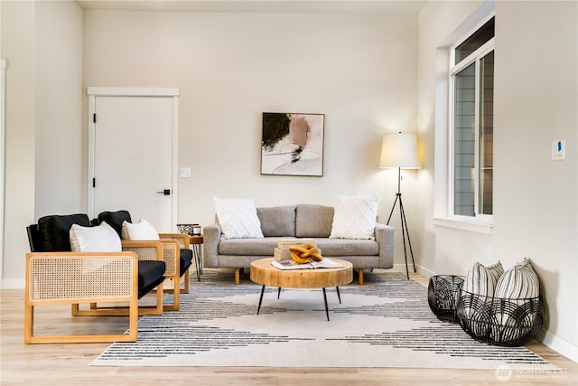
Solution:
{"label": "gray two-cushion sofa with wooden legs behind the coffee table", "polygon": [[326,258],[350,261],[359,272],[363,284],[363,269],[393,268],[394,229],[376,222],[375,240],[330,239],[333,207],[297,204],[256,208],[261,222],[262,239],[222,239],[219,221],[203,229],[203,266],[235,268],[235,283],[239,269],[250,267],[251,261],[273,257],[277,241],[287,238],[312,238]]}

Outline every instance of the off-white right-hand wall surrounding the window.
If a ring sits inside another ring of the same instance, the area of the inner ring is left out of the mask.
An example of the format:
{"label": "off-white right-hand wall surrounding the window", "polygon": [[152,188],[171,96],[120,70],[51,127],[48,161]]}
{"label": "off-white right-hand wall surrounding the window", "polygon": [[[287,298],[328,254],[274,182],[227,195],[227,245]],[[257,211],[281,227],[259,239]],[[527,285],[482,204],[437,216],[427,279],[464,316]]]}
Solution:
{"label": "off-white right-hand wall surrounding the window", "polygon": [[[447,77],[443,47],[465,27],[462,23],[471,24],[469,16],[480,4],[430,2],[419,16],[418,122],[426,167],[418,184],[425,197],[421,243],[429,251],[422,268],[464,275],[477,260],[500,260],[510,268],[524,257],[532,259],[548,313],[540,339],[576,361],[577,3],[496,3],[494,226],[487,235],[432,220],[439,214],[434,206],[447,194],[444,152],[435,143],[447,130],[447,94],[436,88]],[[565,161],[550,159],[555,139],[566,141]]]}

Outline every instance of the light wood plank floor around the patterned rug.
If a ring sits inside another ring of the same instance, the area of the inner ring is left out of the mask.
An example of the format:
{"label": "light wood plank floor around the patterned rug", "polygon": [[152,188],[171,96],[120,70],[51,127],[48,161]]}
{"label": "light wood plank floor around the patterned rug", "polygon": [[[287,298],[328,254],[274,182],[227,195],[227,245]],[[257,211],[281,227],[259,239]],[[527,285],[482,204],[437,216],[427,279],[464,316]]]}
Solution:
{"label": "light wood plank floor around the patterned rug", "polygon": [[[191,280],[193,280],[191,275]],[[426,278],[414,275],[426,285]],[[194,281],[191,281],[194,290]],[[231,285],[233,285],[231,283]],[[172,385],[576,385],[578,364],[543,344],[527,347],[554,363],[561,372],[514,372],[499,381],[493,370],[447,370],[419,368],[230,368],[230,367],[97,367],[89,366],[109,344],[23,344],[23,290],[0,291],[2,385],[143,385],[157,381]],[[44,308],[44,309],[42,309]],[[109,333],[124,331],[124,317],[71,317],[68,306],[37,307],[38,333]],[[266,355],[266,351],[263,355]],[[419,354],[415,356],[419,366]]]}

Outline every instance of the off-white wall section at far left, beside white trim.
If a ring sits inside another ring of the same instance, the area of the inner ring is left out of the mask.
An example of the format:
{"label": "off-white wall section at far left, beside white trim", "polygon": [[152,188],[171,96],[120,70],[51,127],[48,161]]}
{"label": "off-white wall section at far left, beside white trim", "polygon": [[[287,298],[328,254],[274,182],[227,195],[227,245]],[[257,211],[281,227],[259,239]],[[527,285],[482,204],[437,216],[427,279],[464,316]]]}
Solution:
{"label": "off-white wall section at far left, beside white trim", "polygon": [[23,283],[25,226],[34,210],[34,4],[2,1],[0,57],[6,69],[3,286]]}

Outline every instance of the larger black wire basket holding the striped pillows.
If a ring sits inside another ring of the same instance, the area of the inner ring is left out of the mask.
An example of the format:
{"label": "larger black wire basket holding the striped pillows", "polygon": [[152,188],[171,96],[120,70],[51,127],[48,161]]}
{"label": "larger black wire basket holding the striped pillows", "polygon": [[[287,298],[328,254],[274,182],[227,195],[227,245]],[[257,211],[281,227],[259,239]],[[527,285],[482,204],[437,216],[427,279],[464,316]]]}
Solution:
{"label": "larger black wire basket holding the striped pillows", "polygon": [[542,297],[484,297],[460,290],[456,315],[461,328],[477,341],[499,346],[527,344],[542,329]]}

